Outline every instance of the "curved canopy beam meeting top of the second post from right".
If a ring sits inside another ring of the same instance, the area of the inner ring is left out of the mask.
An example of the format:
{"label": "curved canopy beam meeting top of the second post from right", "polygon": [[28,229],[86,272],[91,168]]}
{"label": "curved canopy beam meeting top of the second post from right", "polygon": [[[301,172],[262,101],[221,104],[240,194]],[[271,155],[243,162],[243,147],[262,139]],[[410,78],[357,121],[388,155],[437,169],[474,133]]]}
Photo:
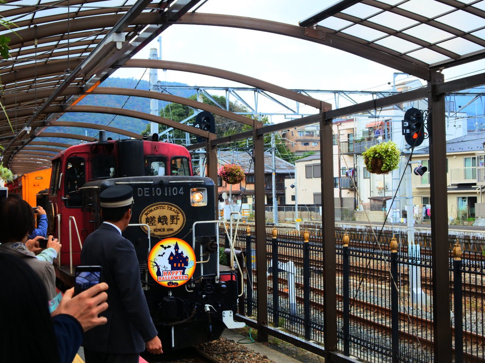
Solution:
{"label": "curved canopy beam meeting top of the second post from right", "polygon": [[[306,96],[304,94],[288,90],[286,88],[276,86],[273,83],[262,81],[258,78],[244,76],[239,73],[229,72],[218,68],[207,67],[204,65],[173,62],[173,61],[158,61],[155,59],[130,59],[124,65],[123,68],[158,68],[158,69],[170,69],[173,71],[198,73],[206,76],[214,76],[218,78],[228,79],[234,82],[244,83],[249,86],[259,88],[264,91],[278,94],[282,97],[286,97],[290,100],[301,102],[302,104],[320,108],[322,101],[316,98]],[[328,104],[330,106],[330,104]]]}

